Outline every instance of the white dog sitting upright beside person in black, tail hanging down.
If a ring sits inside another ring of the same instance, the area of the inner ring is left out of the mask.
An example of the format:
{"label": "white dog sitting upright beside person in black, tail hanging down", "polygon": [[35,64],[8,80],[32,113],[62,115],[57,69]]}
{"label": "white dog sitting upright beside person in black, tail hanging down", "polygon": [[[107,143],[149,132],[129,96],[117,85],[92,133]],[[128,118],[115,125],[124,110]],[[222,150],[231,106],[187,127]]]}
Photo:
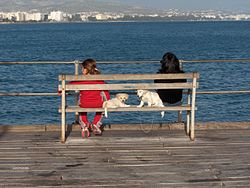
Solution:
{"label": "white dog sitting upright beside person in black, tail hanging down", "polygon": [[[156,92],[139,89],[137,90],[137,96],[141,101],[137,107],[143,107],[145,102],[148,104],[148,106],[164,107],[162,100]],[[161,112],[161,117],[164,117],[164,111]]]}

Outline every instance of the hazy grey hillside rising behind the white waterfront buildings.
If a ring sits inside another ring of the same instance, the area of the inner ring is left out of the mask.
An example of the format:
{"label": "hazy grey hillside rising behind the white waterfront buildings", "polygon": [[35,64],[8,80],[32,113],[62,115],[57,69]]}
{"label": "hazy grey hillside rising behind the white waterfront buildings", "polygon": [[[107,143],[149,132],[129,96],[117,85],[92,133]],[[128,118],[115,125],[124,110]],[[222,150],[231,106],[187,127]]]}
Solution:
{"label": "hazy grey hillside rising behind the white waterfront buildings", "polygon": [[141,12],[145,9],[118,3],[115,0],[1,0],[0,12],[30,11],[49,12],[61,10],[68,13],[82,11]]}

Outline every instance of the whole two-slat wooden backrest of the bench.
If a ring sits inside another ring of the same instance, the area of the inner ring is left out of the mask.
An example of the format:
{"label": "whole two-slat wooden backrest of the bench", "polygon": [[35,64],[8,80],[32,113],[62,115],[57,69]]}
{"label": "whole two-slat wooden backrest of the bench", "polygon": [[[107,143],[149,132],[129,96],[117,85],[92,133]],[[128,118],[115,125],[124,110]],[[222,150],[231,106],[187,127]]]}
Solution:
{"label": "whole two-slat wooden backrest of the bench", "polygon": [[[152,80],[186,79],[185,83],[153,83]],[[103,74],[59,75],[60,90],[137,90],[137,89],[192,89],[198,87],[199,73],[178,74]],[[107,84],[67,84],[68,81],[104,80]],[[108,81],[124,81],[108,83]],[[136,81],[136,82],[135,82]],[[151,81],[151,82],[148,82]],[[148,82],[148,83],[147,83]]]}

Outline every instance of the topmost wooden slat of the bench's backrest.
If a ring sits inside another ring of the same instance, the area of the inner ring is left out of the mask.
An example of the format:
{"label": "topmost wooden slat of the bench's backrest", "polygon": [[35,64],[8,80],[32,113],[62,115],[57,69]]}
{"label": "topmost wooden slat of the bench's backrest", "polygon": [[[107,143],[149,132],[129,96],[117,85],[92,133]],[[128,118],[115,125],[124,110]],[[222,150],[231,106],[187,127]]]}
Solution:
{"label": "topmost wooden slat of the bench's backrest", "polygon": [[80,80],[157,80],[157,79],[192,79],[199,78],[199,73],[178,74],[100,74],[100,75],[59,75],[59,81]]}

